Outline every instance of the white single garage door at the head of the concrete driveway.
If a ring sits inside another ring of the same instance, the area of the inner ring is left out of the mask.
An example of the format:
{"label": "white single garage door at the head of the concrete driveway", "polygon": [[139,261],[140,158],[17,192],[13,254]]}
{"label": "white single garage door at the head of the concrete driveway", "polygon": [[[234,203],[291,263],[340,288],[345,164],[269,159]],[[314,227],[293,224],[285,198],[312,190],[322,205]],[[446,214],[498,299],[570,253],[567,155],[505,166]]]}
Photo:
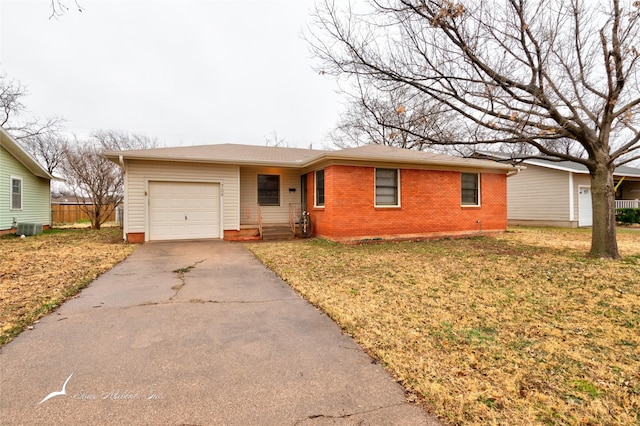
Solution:
{"label": "white single garage door at the head of the concrete driveway", "polygon": [[220,185],[149,183],[149,239],[220,238]]}

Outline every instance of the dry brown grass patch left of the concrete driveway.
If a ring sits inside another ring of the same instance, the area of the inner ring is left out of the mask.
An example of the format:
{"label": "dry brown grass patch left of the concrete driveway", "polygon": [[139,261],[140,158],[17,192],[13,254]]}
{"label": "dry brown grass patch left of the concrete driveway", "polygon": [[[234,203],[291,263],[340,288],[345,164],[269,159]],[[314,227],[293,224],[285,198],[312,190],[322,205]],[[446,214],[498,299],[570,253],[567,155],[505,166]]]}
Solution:
{"label": "dry brown grass patch left of the concrete driveway", "polygon": [[0,238],[0,345],[122,261],[119,229],[53,230]]}

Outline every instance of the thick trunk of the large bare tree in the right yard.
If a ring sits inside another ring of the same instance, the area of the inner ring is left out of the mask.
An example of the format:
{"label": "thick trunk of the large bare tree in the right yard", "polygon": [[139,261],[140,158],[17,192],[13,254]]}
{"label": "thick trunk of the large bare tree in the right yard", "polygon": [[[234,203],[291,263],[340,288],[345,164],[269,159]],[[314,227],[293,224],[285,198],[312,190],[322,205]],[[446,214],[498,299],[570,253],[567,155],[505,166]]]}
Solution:
{"label": "thick trunk of the large bare tree in the right yard", "polygon": [[620,259],[616,240],[616,206],[613,170],[597,167],[591,171],[593,229],[591,256]]}

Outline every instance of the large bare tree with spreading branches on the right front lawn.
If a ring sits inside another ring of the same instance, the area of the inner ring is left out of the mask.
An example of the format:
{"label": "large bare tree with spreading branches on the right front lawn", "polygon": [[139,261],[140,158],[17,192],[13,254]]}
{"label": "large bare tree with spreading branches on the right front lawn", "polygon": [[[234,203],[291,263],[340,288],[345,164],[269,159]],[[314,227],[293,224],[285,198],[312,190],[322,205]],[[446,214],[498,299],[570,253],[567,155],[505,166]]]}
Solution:
{"label": "large bare tree with spreading branches on the right front lawn", "polygon": [[583,164],[591,255],[620,258],[613,171],[640,147],[639,2],[364,4],[316,8],[308,39],[323,72],[380,91],[402,87],[454,111],[452,140],[398,126],[431,143],[508,144],[522,159]]}

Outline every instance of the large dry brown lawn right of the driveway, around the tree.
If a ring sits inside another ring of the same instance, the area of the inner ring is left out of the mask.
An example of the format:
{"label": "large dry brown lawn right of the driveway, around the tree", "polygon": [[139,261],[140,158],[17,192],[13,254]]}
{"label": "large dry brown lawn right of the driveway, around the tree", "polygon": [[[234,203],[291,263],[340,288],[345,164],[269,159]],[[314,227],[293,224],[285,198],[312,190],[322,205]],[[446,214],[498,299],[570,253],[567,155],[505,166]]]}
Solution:
{"label": "large dry brown lawn right of the driveway, around the tree", "polygon": [[640,231],[250,249],[456,424],[640,423]]}

